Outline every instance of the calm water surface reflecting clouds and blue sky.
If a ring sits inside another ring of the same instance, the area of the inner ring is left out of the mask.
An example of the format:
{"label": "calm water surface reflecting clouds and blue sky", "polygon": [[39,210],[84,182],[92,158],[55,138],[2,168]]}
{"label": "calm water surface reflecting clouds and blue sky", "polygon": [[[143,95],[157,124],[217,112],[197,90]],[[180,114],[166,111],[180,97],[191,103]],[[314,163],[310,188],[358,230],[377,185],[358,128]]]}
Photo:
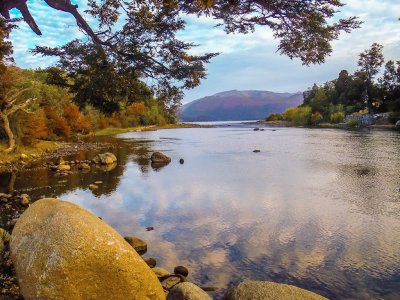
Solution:
{"label": "calm water surface reflecting clouds and blue sky", "polygon": [[[13,181],[33,198],[82,205],[144,238],[160,266],[186,265],[204,285],[249,277],[330,298],[398,299],[399,137],[235,126],[128,133],[114,141],[112,170],[5,174],[0,191]],[[152,151],[172,162],[153,169]],[[95,181],[103,184],[92,192]]]}

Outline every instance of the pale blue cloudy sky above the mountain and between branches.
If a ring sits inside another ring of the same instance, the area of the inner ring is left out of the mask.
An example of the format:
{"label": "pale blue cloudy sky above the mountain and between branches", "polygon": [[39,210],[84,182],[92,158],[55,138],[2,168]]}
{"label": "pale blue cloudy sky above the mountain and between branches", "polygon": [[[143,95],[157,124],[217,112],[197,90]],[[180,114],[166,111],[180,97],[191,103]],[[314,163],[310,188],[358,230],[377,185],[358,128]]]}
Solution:
{"label": "pale blue cloudy sky above the mountain and between branches", "polygon": [[[75,0],[79,11],[85,10],[85,0]],[[337,78],[343,69],[357,70],[358,55],[377,42],[384,46],[386,60],[400,60],[400,1],[399,0],[344,0],[335,16],[357,16],[364,23],[350,34],[342,33],[332,43],[333,52],[321,65],[303,66],[298,59],[290,60],[277,53],[278,41],[268,28],[257,28],[252,34],[227,35],[216,28],[214,20],[186,17],[187,28],[179,33],[185,41],[199,46],[194,53],[220,52],[207,67],[207,79],[193,90],[185,92],[183,103],[228,90],[268,90],[273,92],[304,91],[314,83],[322,84]],[[14,44],[14,58],[23,68],[47,67],[55,60],[33,56],[29,49],[35,45],[56,46],[75,38],[84,38],[74,18],[55,11],[44,1],[28,1],[32,15],[43,35],[36,36],[21,23],[10,39]],[[14,16],[18,13],[14,11]],[[86,16],[89,23],[94,22]],[[60,25],[62,24],[62,25]]]}

